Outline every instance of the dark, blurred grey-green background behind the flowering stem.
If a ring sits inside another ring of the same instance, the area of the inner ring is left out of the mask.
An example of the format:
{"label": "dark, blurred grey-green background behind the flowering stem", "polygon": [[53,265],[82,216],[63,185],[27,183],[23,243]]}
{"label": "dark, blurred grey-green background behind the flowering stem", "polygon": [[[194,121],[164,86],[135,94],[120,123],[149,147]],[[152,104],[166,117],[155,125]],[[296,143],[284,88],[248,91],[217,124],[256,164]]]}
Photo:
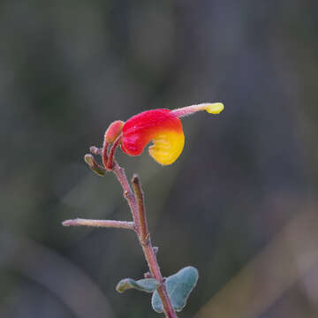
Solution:
{"label": "dark, blurred grey-green background behind the flowering stem", "polygon": [[0,4],[0,316],[155,317],[115,291],[147,269],[113,175],[83,161],[116,119],[223,102],[138,172],[164,276],[200,279],[180,317],[318,316],[316,1],[4,0]]}

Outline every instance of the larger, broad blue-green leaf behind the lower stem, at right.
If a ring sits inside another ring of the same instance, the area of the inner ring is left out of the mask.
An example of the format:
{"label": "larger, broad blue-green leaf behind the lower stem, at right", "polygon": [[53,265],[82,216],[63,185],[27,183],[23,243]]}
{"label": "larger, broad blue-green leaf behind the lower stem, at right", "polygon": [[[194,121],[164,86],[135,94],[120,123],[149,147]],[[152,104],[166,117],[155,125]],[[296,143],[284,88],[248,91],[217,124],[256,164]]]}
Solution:
{"label": "larger, broad blue-green leaf behind the lower stem, at right", "polygon": [[[184,269],[180,269],[178,273],[166,279],[165,285],[167,292],[172,307],[176,311],[180,312],[186,306],[186,300],[197,284],[198,277],[198,270],[192,266],[188,266]],[[155,291],[152,296],[151,305],[157,313],[163,313],[163,303],[157,291]]]}

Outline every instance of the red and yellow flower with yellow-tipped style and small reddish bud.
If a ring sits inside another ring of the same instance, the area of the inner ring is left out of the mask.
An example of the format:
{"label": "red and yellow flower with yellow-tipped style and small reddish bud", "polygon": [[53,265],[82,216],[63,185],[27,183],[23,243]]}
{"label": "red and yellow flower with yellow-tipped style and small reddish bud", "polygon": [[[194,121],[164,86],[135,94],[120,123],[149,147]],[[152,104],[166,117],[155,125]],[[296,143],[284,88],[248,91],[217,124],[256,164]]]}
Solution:
{"label": "red and yellow flower with yellow-tipped style and small reddish bud", "polygon": [[[185,146],[180,117],[193,114],[196,111],[206,110],[211,114],[219,114],[224,109],[223,103],[201,103],[177,110],[146,110],[129,118],[125,124],[114,122],[116,129],[110,128],[111,141],[115,135],[120,135],[121,148],[127,155],[140,155],[150,141],[153,145],[148,148],[157,163],[168,165],[174,163]],[[117,123],[117,124],[115,124]],[[116,131],[116,133],[114,133]],[[105,140],[107,133],[105,134]]]}

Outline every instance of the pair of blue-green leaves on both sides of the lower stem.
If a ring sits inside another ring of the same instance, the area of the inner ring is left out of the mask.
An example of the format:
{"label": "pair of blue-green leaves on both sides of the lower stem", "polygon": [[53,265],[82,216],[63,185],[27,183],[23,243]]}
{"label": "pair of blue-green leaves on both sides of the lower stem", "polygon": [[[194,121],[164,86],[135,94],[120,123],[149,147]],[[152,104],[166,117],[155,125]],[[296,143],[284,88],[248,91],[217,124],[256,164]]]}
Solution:
{"label": "pair of blue-green leaves on both sides of the lower stem", "polygon": [[[166,289],[176,311],[181,311],[186,306],[186,300],[198,281],[198,270],[192,266],[180,269],[178,273],[167,277],[165,280]],[[159,282],[155,278],[145,278],[138,281],[132,278],[122,279],[116,287],[117,292],[125,292],[128,289],[137,289],[141,292],[154,292],[151,305],[155,312],[163,313],[163,303],[156,291]]]}

